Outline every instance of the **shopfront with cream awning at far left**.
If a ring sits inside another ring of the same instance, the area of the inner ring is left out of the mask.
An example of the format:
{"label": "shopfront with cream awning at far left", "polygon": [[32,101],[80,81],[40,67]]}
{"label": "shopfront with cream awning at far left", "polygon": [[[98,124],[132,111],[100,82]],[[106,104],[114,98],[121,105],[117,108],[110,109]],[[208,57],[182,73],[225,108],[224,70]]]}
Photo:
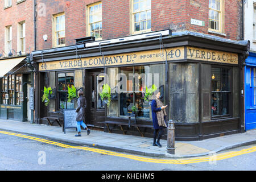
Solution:
{"label": "shopfront with cream awning at far left", "polygon": [[32,86],[31,73],[27,70],[26,56],[0,60],[1,97],[0,118],[30,121],[28,96]]}

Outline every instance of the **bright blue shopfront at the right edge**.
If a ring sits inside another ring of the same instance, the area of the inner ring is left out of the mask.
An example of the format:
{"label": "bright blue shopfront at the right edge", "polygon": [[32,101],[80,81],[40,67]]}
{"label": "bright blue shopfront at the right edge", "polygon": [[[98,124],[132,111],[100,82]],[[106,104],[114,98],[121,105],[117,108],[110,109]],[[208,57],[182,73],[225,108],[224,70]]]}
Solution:
{"label": "bright blue shopfront at the right edge", "polygon": [[245,60],[245,130],[256,129],[256,53]]}

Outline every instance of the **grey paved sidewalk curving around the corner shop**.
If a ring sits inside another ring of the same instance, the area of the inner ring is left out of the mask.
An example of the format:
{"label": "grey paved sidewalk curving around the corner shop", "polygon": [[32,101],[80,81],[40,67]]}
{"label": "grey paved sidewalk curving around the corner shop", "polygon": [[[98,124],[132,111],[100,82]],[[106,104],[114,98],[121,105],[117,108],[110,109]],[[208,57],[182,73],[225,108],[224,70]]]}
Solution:
{"label": "grey paved sidewalk curving around the corner shop", "polygon": [[223,137],[201,141],[176,141],[175,154],[167,153],[167,140],[164,139],[160,139],[162,147],[158,147],[152,146],[152,138],[105,133],[98,130],[91,130],[90,135],[87,135],[86,130],[82,130],[82,137],[75,137],[75,134],[77,134],[76,129],[66,129],[66,134],[64,134],[62,127],[59,126],[38,125],[10,119],[0,119],[0,130],[27,134],[58,142],[72,143],[79,146],[90,146],[104,150],[162,158],[188,158],[212,155],[220,151],[256,144],[256,129],[248,130],[245,133],[224,135]]}

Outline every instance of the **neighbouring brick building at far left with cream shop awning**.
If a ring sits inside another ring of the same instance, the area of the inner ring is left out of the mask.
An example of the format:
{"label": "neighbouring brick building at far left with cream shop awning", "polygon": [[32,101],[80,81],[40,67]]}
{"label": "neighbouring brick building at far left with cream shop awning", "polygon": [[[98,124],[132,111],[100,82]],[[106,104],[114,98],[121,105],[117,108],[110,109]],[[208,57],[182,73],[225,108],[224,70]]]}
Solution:
{"label": "neighbouring brick building at far left with cream shop awning", "polygon": [[34,1],[0,2],[0,117],[31,121],[27,94],[32,86],[27,53],[34,51]]}

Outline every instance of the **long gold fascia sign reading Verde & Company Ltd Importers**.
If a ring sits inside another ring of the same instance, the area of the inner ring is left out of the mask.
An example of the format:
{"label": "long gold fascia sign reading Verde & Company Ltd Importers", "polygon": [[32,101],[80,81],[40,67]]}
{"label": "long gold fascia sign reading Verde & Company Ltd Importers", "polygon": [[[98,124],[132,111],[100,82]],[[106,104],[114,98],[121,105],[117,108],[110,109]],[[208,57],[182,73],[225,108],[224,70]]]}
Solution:
{"label": "long gold fascia sign reading Verde & Company Ltd Importers", "polygon": [[[184,59],[184,47],[155,49],[151,51],[131,52],[118,55],[106,55],[96,57],[85,57],[72,60],[50,61],[39,63],[39,71],[49,71],[58,69],[109,67],[115,65],[154,63],[167,60]],[[105,61],[103,61],[105,60]]]}

